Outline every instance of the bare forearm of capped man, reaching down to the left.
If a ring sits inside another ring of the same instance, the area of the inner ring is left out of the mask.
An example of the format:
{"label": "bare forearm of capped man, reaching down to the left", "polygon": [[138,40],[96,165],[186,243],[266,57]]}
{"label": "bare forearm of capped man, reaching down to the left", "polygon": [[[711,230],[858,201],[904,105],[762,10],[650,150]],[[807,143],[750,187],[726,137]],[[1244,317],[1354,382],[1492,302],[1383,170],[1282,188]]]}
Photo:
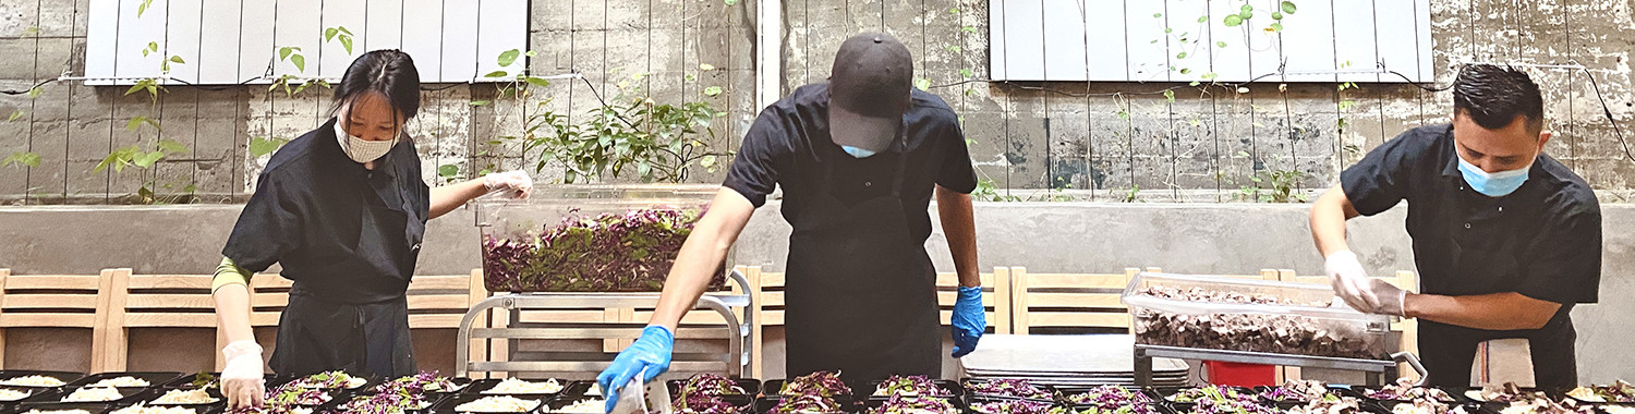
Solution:
{"label": "bare forearm of capped man, reaching down to the left", "polygon": [[739,232],[749,224],[755,206],[732,188],[723,187],[716,191],[710,211],[693,226],[682,250],[675,255],[675,265],[659,293],[659,306],[652,311],[647,326],[662,326],[670,332],[682,324],[682,316],[698,304],[705,295],[714,272],[726,260],[728,249],[737,241]]}

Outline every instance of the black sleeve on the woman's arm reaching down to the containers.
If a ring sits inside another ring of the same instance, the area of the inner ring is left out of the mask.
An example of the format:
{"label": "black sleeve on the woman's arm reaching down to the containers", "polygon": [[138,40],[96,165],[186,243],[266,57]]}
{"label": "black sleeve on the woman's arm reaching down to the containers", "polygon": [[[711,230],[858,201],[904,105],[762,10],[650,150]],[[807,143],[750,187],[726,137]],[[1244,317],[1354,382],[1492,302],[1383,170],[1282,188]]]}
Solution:
{"label": "black sleeve on the woman's arm reaching down to the containers", "polygon": [[294,200],[278,175],[262,173],[221,254],[245,270],[262,272],[293,250],[299,239]]}

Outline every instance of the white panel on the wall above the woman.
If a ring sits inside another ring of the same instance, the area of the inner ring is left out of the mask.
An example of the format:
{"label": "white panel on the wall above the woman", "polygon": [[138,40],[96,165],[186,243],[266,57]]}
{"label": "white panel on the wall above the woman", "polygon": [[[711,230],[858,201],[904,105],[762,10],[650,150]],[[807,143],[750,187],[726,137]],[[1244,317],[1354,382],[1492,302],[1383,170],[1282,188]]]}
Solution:
{"label": "white panel on the wall above the woman", "polygon": [[[477,70],[497,70],[500,52],[528,46],[528,0],[152,0],[137,18],[141,3],[90,0],[88,85],[162,77],[170,56],[185,64],[168,77],[190,83],[268,83],[286,74],[335,80],[374,49],[407,51],[422,82],[471,82]],[[353,33],[350,54],[324,41],[324,29],[337,26]],[[159,51],[142,56],[149,43]],[[304,70],[278,59],[289,46],[301,47]],[[526,57],[510,72],[522,67]]]}

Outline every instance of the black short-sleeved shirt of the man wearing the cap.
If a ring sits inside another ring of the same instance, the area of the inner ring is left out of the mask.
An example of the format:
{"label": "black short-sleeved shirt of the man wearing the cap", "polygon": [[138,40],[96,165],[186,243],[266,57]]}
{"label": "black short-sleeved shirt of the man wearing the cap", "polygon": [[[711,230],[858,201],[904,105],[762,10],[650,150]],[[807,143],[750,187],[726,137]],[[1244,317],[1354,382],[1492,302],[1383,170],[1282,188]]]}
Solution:
{"label": "black short-sleeved shirt of the man wearing the cap", "polygon": [[[803,213],[798,200],[816,191],[824,175],[819,160],[837,160],[834,195],[852,203],[891,193],[891,175],[901,157],[909,157],[903,178],[903,211],[907,214],[914,241],[930,237],[930,205],[934,185],[952,191],[976,190],[960,116],[942,98],[912,92],[912,108],[903,115],[907,151],[889,151],[867,159],[853,159],[829,137],[829,83],[811,83],[767,106],[744,136],[744,144],[728,170],[723,187],[749,198],[757,208],[767,195],[783,185],[783,216],[790,223]],[[862,236],[860,236],[862,237]]]}

